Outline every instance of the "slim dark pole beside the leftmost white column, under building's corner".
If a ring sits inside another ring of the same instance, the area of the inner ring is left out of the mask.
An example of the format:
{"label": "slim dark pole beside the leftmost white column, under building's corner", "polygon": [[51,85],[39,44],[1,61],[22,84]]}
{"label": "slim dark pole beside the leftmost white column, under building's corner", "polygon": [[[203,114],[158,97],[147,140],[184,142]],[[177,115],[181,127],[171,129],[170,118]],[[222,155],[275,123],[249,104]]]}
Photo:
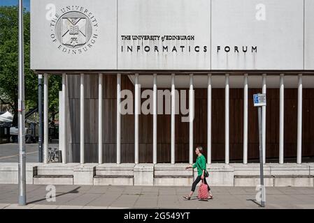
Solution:
{"label": "slim dark pole beside the leftmost white column, under building's corner", "polygon": [[43,75],[38,75],[38,162],[43,162]]}

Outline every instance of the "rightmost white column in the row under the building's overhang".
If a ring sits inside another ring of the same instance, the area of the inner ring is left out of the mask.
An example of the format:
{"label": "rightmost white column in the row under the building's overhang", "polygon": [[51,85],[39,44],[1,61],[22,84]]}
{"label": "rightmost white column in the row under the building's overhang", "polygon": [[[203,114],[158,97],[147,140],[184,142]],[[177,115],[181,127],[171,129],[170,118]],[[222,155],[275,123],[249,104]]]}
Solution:
{"label": "rightmost white column in the row under the building's overhang", "polygon": [[302,162],[302,75],[298,76],[298,133],[297,133],[297,163]]}

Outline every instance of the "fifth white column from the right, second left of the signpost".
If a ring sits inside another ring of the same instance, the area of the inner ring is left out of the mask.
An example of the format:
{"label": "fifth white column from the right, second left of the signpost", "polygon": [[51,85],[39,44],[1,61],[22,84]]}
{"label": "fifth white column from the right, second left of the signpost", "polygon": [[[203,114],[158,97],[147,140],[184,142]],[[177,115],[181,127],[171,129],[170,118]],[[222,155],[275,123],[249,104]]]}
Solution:
{"label": "fifth white column from the right, second left of the signpost", "polygon": [[229,164],[229,74],[225,77],[224,104],[224,160]]}

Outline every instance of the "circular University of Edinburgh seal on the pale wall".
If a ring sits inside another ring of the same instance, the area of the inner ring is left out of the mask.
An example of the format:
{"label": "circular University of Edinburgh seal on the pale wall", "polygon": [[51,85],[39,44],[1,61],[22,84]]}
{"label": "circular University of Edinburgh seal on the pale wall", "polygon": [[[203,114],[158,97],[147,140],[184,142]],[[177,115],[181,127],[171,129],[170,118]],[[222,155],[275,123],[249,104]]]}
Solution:
{"label": "circular University of Edinburgh seal on the pale wall", "polygon": [[50,23],[52,42],[66,54],[83,54],[94,47],[98,38],[98,21],[87,8],[66,6]]}

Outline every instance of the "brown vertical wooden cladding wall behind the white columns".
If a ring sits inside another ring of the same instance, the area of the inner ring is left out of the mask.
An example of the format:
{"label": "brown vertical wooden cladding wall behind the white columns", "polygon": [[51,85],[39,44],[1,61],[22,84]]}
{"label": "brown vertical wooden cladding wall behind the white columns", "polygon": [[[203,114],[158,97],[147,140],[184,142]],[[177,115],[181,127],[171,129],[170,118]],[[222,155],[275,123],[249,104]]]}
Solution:
{"label": "brown vertical wooden cladding wall behind the white columns", "polygon": [[[116,76],[103,78],[103,160],[116,162]],[[69,86],[69,148],[73,162],[80,161],[80,77],[68,75]],[[122,90],[134,95],[134,84],[122,75]],[[162,90],[162,89],[159,89]],[[189,89],[186,91],[188,108]],[[194,148],[207,144],[207,89],[195,90]],[[141,89],[141,92],[145,89]],[[252,95],[260,89],[249,89],[248,100],[248,159],[258,159],[257,109]],[[224,162],[224,89],[212,90],[212,160]],[[314,155],[314,89],[304,89],[303,156]],[[122,99],[123,100],[123,99]],[[141,102],[145,99],[141,99]],[[165,102],[164,102],[165,103]],[[279,89],[267,89],[266,157],[278,158],[279,148]],[[176,115],[176,162],[189,160],[189,123]],[[186,116],[186,115],[185,115]],[[157,162],[170,162],[171,116],[157,116]],[[139,116],[139,162],[152,162],[152,115]],[[98,162],[98,75],[85,75],[85,160]],[[121,116],[121,162],[134,162],[134,114]],[[297,154],[297,89],[285,89],[285,157]],[[194,160],[196,159],[194,155]],[[243,159],[243,89],[230,89],[230,160]]]}

